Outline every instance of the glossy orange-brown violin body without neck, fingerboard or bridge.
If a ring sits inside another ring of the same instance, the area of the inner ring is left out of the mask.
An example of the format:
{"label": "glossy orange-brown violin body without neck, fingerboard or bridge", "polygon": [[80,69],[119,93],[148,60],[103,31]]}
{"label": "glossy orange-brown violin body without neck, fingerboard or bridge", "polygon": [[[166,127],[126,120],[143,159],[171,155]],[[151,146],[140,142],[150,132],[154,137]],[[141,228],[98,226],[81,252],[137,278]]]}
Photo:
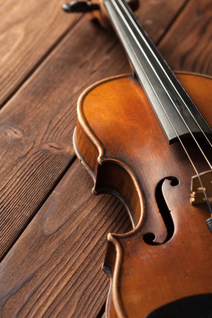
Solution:
{"label": "glossy orange-brown violin body without neck, fingerboard or bridge", "polygon": [[[211,127],[212,78],[176,75]],[[108,235],[106,317],[211,316],[208,209],[204,203],[190,204],[195,172],[180,143],[168,144],[131,74],[88,87],[77,113],[74,147],[94,179],[93,192],[118,196],[133,227],[126,234]],[[196,167],[207,170],[192,140],[188,147]],[[211,159],[211,151],[205,153]]]}

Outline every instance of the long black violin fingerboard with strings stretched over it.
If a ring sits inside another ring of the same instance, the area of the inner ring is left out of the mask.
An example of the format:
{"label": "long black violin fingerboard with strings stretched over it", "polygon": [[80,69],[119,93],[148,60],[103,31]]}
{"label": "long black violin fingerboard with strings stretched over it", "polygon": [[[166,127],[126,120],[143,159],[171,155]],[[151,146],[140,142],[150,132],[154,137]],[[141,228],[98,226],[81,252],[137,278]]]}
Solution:
{"label": "long black violin fingerboard with strings stretched over it", "polygon": [[189,135],[190,131],[212,135],[209,125],[126,2],[104,0],[104,6],[169,143]]}

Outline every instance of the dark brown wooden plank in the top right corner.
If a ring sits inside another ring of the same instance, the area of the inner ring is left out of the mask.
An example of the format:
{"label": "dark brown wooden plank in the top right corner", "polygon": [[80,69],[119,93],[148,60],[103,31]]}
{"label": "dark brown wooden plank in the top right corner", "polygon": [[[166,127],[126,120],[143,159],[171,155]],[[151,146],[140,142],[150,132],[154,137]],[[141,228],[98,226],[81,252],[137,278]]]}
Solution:
{"label": "dark brown wooden plank in the top right corner", "polygon": [[191,0],[160,43],[175,71],[212,74],[212,3]]}

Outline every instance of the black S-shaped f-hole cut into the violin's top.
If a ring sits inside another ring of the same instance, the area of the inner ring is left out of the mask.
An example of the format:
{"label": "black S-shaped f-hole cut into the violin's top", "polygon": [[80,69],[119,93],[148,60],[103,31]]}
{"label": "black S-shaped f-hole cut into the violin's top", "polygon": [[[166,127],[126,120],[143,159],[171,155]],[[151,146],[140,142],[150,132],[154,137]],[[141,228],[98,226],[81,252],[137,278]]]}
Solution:
{"label": "black S-shaped f-hole cut into the violin's top", "polygon": [[161,216],[163,218],[165,227],[167,229],[167,237],[165,239],[165,241],[163,243],[159,243],[159,242],[155,242],[155,238],[156,235],[154,233],[146,233],[143,236],[143,240],[146,244],[149,245],[161,245],[164,244],[166,242],[168,242],[173,234],[174,234],[174,222],[170,213],[170,210],[166,204],[166,201],[164,199],[163,196],[163,191],[162,191],[162,186],[165,180],[170,180],[170,185],[171,186],[176,186],[179,184],[179,180],[176,177],[166,177],[163,178],[157,185],[156,187],[156,192],[155,192],[155,196],[156,196],[156,202],[158,204],[158,208],[159,208],[159,213],[161,213]]}

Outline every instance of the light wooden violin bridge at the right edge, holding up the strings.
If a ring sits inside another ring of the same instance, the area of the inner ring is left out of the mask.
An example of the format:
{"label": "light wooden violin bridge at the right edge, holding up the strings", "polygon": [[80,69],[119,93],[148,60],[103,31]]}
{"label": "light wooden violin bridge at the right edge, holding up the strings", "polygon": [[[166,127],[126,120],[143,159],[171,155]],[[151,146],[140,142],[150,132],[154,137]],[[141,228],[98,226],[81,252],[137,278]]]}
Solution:
{"label": "light wooden violin bridge at the right edge, holding up the strings", "polygon": [[[212,199],[212,170],[208,170],[199,174],[202,185],[204,186],[204,191],[206,197]],[[191,204],[203,203],[205,202],[205,196],[202,186],[199,181],[199,177],[193,176],[191,178]]]}

